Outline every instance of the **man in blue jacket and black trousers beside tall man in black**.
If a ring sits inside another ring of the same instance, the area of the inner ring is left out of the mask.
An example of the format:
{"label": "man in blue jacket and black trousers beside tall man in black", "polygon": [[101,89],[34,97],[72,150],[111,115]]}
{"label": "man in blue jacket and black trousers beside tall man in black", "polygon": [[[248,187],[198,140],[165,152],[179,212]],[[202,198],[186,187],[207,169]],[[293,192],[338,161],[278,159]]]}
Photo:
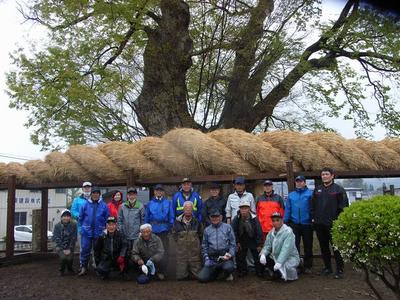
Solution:
{"label": "man in blue jacket and black trousers beside tall man in black", "polygon": [[306,178],[297,176],[296,190],[289,193],[286,201],[284,222],[293,229],[296,238],[296,248],[300,253],[300,240],[304,247],[304,273],[310,274],[313,257],[313,228],[311,223],[312,191],[306,186]]}

